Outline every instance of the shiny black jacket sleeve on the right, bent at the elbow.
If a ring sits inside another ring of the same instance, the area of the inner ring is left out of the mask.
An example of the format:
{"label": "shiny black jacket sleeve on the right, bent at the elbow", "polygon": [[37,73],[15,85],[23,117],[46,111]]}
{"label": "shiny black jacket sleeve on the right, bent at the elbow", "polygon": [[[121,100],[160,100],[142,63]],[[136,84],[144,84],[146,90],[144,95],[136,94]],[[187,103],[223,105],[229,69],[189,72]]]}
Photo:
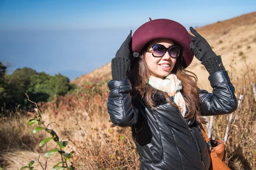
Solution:
{"label": "shiny black jacket sleeve on the right, bent at the elbow", "polygon": [[217,71],[209,76],[212,93],[198,89],[202,116],[229,114],[236,110],[235,88],[227,71]]}

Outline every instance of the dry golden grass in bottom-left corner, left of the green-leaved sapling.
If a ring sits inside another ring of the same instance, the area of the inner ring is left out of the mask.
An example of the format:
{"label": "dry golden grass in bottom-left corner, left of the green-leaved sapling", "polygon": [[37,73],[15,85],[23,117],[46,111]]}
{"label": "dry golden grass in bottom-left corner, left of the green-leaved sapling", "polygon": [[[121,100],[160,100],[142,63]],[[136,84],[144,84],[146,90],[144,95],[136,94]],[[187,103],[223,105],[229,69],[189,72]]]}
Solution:
{"label": "dry golden grass in bottom-left corner, left of the green-leaved sapling", "polygon": [[[39,132],[32,135],[32,126],[27,126],[28,118],[25,111],[16,110],[15,113],[9,113],[9,116],[0,118],[0,165],[4,170],[20,169],[29,163],[30,160],[37,160],[43,149],[39,148],[39,142],[43,138],[44,133]],[[48,115],[44,114],[47,118]],[[49,149],[53,147],[49,144]],[[39,159],[42,163],[45,160]],[[50,162],[50,166],[58,162],[56,159]],[[35,162],[35,168],[41,166]]]}

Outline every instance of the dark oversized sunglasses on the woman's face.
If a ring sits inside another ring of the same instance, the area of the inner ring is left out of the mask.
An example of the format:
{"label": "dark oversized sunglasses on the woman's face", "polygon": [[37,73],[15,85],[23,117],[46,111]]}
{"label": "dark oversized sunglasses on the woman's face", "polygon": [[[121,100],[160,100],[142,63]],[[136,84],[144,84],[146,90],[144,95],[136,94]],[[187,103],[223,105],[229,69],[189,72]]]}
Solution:
{"label": "dark oversized sunglasses on the woman's face", "polygon": [[180,47],[177,45],[172,45],[169,48],[166,48],[162,44],[155,44],[155,45],[152,45],[151,50],[147,50],[147,51],[151,52],[154,57],[163,57],[164,54],[166,54],[167,50],[168,50],[169,56],[173,58],[179,57]]}

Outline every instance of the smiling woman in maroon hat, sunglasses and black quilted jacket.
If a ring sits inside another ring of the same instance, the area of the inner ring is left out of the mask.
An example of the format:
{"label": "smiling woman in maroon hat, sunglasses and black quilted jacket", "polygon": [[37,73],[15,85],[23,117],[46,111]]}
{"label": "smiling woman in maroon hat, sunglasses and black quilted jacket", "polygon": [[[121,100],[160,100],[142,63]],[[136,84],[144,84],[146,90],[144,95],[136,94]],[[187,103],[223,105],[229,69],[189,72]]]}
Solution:
{"label": "smiling woman in maroon hat, sunglasses and black quilted jacket", "polygon": [[[208,170],[198,123],[206,123],[202,116],[237,108],[221,57],[190,31],[195,36],[175,21],[150,19],[128,35],[112,59],[108,113],[114,125],[131,127],[141,170]],[[209,72],[212,93],[199,89],[195,75],[184,70],[194,55]]]}

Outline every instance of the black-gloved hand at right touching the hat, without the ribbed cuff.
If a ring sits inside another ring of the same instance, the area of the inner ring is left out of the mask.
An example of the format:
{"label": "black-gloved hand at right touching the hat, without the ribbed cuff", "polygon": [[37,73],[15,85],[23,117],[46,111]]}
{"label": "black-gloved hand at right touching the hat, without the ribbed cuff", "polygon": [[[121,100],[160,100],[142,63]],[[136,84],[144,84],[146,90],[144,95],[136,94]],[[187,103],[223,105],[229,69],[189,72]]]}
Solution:
{"label": "black-gloved hand at right touching the hat, without the ribbed cuff", "polygon": [[193,54],[195,57],[202,61],[204,57],[217,57],[214,51],[212,51],[211,46],[208,44],[208,42],[202,37],[200,34],[198,34],[197,31],[193,27],[189,27],[190,31],[193,35],[190,35],[192,42],[190,44],[190,48],[192,49]]}

